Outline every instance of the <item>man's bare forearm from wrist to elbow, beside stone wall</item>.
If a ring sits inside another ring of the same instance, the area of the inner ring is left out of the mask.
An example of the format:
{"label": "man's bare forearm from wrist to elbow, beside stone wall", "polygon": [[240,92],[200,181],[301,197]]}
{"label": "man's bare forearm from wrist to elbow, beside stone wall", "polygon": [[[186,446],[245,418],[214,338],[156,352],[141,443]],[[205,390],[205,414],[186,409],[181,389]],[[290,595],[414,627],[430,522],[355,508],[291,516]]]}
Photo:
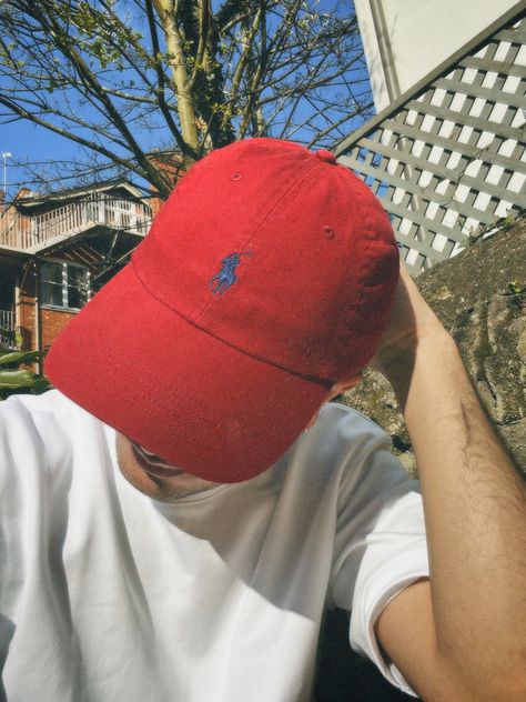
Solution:
{"label": "man's bare forearm from wrist to elbow, beside stone wall", "polygon": [[385,374],[404,412],[422,483],[437,650],[462,675],[520,684],[526,485],[442,328]]}

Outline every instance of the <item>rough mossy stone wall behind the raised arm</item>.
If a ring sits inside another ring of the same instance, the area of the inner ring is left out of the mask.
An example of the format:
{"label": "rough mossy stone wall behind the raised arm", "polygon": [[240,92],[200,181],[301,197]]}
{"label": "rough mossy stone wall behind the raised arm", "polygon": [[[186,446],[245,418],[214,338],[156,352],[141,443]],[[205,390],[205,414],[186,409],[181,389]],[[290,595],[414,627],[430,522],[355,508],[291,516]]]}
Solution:
{"label": "rough mossy stone wall behind the raised arm", "polygon": [[[525,292],[514,293],[513,281]],[[416,282],[455,339],[487,415],[526,475],[526,219],[506,222]],[[411,440],[387,381],[366,371],[344,401],[392,435],[395,453],[415,474]]]}

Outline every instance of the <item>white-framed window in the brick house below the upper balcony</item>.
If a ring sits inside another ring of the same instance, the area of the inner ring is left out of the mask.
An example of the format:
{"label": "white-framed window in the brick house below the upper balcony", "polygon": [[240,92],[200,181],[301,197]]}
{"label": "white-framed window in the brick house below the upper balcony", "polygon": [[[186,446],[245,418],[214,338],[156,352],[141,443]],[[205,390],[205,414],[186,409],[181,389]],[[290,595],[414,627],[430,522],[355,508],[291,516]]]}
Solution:
{"label": "white-framed window in the brick house below the upper balcony", "polygon": [[80,310],[90,299],[90,272],[77,263],[42,263],[42,304]]}

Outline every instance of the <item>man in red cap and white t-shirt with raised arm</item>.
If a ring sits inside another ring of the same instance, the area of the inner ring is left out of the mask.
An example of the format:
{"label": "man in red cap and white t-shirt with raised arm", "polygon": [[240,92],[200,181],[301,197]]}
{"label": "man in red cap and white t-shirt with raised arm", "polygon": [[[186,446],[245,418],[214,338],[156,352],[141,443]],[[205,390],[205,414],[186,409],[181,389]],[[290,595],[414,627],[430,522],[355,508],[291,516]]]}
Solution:
{"label": "man in red cap and white t-shirt with raised arm", "polygon": [[[191,169],[53,345],[58,390],[1,405],[10,701],[308,700],[334,605],[409,694],[525,699],[525,487],[398,271],[326,151],[254,139]],[[326,404],[367,364],[422,499]]]}

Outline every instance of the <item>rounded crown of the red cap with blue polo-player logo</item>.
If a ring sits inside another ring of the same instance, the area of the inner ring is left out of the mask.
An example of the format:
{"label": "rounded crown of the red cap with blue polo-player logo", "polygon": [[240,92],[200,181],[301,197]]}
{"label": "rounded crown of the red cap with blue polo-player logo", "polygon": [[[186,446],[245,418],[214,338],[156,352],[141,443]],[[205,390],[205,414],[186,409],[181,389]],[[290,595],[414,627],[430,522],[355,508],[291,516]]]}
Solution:
{"label": "rounded crown of the red cap with blue polo-player logo", "polygon": [[373,355],[398,277],[391,224],[366,185],[328,152],[274,139],[193,166],[132,262],[199,329],[327,384]]}

